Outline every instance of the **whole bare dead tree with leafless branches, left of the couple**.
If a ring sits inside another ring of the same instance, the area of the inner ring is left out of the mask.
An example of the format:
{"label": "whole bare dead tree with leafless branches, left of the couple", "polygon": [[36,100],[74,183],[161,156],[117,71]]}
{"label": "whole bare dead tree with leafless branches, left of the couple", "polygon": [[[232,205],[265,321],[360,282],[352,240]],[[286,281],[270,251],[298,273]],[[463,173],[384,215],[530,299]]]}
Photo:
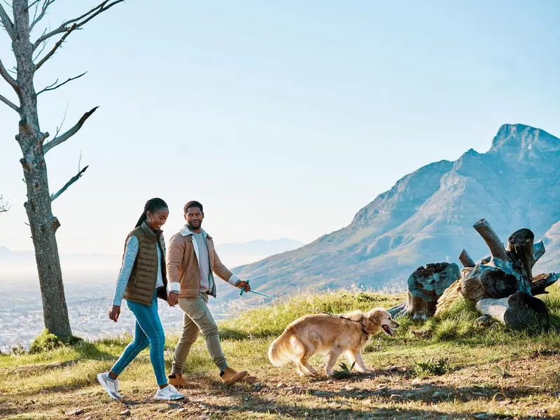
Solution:
{"label": "whole bare dead tree with leafless branches, left of the couple", "polygon": [[[6,69],[0,57],[0,76],[15,92],[17,101],[0,94],[0,102],[20,116],[18,134],[15,139],[20,144],[22,158],[20,159],[25,183],[27,185],[27,202],[25,209],[29,218],[31,237],[35,248],[35,258],[38,269],[41,296],[43,299],[43,316],[45,327],[52,333],[61,337],[71,336],[68,309],[64,297],[64,284],[58,255],[55,233],[60,227],[58,219],[52,215],[51,203],[59,195],[78,181],[87,167],[78,171],[66,185],[57,193],[50,193],[47,176],[45,153],[50,149],[69,140],[84,125],[85,121],[97,110],[97,106],[83,114],[76,125],[70,130],[57,133],[51,141],[48,132],[41,131],[37,110],[37,96],[40,93],[52,92],[79,76],[69,78],[63,83],[58,80],[52,85],[36,92],[34,77],[36,71],[62,47],[66,39],[97,15],[124,0],[105,0],[78,18],[66,20],[56,29],[45,30],[36,40],[31,40],[31,31],[36,27],[56,0],[13,0],[11,14],[0,3],[0,22],[10,37],[13,54],[15,55],[15,76]],[[9,9],[7,9],[10,11]],[[49,41],[55,41],[48,50]],[[46,51],[45,53],[43,53]],[[13,73],[13,72],[12,72]]]}

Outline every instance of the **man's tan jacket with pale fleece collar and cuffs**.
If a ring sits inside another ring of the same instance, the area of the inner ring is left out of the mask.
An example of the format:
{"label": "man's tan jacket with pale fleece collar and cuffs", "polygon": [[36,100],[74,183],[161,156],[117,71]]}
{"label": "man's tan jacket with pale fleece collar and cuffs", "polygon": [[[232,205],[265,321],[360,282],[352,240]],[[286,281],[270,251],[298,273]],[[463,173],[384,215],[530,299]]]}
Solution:
{"label": "man's tan jacket with pale fleece collar and cuffs", "polygon": [[[210,275],[216,273],[221,279],[228,281],[232,286],[237,286],[239,277],[232,274],[229,269],[222,264],[216,249],[214,248],[214,240],[207,232],[202,230],[202,235],[206,239],[208,246],[208,255],[210,256]],[[167,246],[167,281],[170,290],[175,287],[172,283],[181,284],[181,293],[179,297],[198,297],[200,293],[200,266],[198,245],[193,232],[185,225],[183,229],[173,235]],[[213,276],[214,277],[214,276]],[[212,279],[214,280],[214,279]],[[212,281],[212,290],[208,291],[209,295],[216,297],[216,282]]]}

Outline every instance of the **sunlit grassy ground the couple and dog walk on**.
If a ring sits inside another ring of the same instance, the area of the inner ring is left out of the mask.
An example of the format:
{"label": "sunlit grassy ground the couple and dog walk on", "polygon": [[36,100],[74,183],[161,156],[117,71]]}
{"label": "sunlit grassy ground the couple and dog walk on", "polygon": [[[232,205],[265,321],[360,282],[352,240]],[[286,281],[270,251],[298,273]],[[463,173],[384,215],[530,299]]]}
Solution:
{"label": "sunlit grassy ground the couple and dog walk on", "polygon": [[[301,378],[293,365],[272,367],[267,348],[311,307],[332,312],[390,307],[402,296],[339,291],[295,298],[302,309],[288,304],[254,309],[221,324],[220,331],[232,367],[247,368],[258,383],[223,386],[199,338],[186,367],[187,399],[172,404],[152,398],[155,381],[147,349],[120,377],[121,402],[110,400],[97,385],[97,372],[111,366],[130,337],[1,355],[0,418],[557,419],[560,288],[549,290],[543,297],[551,313],[549,331],[476,324],[472,307],[457,302],[424,324],[398,319],[395,337],[376,335],[365,348],[372,373],[339,380],[323,374]],[[412,330],[423,331],[424,338]],[[176,339],[167,338],[167,371]],[[311,359],[317,368],[322,363],[321,356]],[[71,414],[75,410],[83,412]]]}

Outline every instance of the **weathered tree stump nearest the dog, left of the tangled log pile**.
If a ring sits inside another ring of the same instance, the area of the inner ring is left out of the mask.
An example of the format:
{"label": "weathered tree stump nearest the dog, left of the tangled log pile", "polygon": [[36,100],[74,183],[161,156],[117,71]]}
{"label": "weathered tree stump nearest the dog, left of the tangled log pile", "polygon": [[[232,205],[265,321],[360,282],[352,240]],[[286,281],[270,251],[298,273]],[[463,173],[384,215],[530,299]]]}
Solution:
{"label": "weathered tree stump nearest the dog, left of the tangled log pile", "polygon": [[437,299],[459,278],[459,267],[452,262],[419,267],[408,278],[407,301],[388,311],[392,316],[407,314],[413,319],[429,318],[435,313]]}

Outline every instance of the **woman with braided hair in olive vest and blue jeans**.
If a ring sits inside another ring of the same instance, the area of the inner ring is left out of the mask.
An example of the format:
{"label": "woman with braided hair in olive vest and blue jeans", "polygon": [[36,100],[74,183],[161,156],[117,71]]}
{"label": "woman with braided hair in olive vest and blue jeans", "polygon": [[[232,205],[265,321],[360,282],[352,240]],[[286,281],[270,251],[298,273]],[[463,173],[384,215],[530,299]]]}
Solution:
{"label": "woman with braided hair in olive vest and blue jeans", "polygon": [[109,372],[97,375],[99,384],[102,384],[109,396],[115,400],[121,398],[118,392],[118,375],[148,345],[155,379],[159,386],[154,398],[179,400],[185,396],[167,383],[163,359],[165,334],[158,314],[158,297],[167,300],[165,242],[161,230],[162,225],[167,221],[167,216],[169,216],[169,209],[165,201],[160,198],[148,200],[136,228],[128,234],[126,240],[123,267],[118,276],[109,318],[118,321],[120,304],[124,297],[130,311],[136,317],[134,340]]}

